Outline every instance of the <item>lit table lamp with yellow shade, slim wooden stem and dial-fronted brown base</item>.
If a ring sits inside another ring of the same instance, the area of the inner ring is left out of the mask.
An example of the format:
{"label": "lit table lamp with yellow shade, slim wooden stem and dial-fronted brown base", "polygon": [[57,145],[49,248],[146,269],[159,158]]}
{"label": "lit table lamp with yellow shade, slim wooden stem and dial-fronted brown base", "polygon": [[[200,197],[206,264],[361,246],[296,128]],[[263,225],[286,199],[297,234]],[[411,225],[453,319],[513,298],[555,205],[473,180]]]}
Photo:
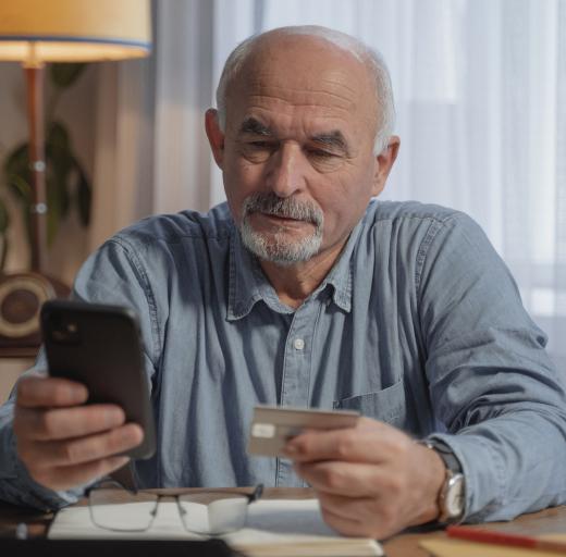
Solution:
{"label": "lit table lamp with yellow shade, slim wooden stem and dial-fronted brown base", "polygon": [[33,191],[32,268],[0,277],[0,357],[33,355],[41,304],[69,294],[46,274],[44,65],[148,55],[150,27],[149,0],[0,1],[0,61],[21,62],[27,82]]}

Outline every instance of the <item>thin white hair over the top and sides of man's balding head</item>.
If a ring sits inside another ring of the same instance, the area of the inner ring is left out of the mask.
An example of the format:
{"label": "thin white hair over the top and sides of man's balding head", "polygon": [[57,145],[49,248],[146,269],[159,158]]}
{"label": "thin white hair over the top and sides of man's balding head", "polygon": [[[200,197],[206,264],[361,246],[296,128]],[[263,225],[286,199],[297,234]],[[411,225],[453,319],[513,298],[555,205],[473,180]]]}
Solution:
{"label": "thin white hair over the top and sides of man's balding head", "polygon": [[336,65],[358,64],[364,67],[365,77],[358,82],[365,83],[352,85],[364,89],[369,87],[365,102],[373,115],[374,152],[381,152],[393,134],[395,123],[391,79],[385,63],[378,52],[358,39],[320,26],[281,27],[249,37],[232,51],[217,88],[220,127],[225,127],[230,91],[238,85],[241,77],[245,75],[249,78],[254,72],[269,65],[273,55],[288,52],[292,47],[294,51],[317,51],[320,63],[327,61]]}

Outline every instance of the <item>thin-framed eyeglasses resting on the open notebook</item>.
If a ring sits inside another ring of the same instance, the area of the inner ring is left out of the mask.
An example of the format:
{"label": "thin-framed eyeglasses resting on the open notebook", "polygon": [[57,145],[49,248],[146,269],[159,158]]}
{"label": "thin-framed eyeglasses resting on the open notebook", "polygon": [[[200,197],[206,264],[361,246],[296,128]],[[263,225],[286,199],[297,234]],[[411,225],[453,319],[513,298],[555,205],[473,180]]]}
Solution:
{"label": "thin-framed eyeglasses resting on the open notebook", "polygon": [[263,485],[253,493],[218,491],[186,495],[158,495],[131,491],[114,480],[103,480],[87,490],[93,523],[114,532],[145,532],[151,527],[162,497],[174,497],[187,532],[222,535],[246,524],[248,505],[261,497]]}

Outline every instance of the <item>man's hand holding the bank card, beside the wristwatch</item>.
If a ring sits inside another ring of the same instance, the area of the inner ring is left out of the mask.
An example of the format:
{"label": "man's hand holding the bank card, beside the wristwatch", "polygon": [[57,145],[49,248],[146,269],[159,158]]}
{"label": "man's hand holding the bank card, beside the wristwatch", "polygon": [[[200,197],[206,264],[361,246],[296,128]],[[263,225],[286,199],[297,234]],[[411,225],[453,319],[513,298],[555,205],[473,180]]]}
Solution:
{"label": "man's hand holding the bank card, beside the wristwatch", "polygon": [[384,539],[439,516],[444,463],[389,424],[360,418],[356,428],[305,432],[285,453],[342,534]]}

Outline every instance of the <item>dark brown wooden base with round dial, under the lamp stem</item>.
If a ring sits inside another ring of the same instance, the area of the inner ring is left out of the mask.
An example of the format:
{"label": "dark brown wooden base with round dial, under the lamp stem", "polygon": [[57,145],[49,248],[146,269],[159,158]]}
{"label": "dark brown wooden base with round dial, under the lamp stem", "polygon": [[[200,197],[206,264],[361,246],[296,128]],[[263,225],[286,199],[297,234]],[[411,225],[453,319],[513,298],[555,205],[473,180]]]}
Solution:
{"label": "dark brown wooden base with round dial, under the lamp stem", "polygon": [[69,286],[45,274],[0,274],[0,358],[35,356],[41,344],[41,305],[66,298],[70,292]]}

